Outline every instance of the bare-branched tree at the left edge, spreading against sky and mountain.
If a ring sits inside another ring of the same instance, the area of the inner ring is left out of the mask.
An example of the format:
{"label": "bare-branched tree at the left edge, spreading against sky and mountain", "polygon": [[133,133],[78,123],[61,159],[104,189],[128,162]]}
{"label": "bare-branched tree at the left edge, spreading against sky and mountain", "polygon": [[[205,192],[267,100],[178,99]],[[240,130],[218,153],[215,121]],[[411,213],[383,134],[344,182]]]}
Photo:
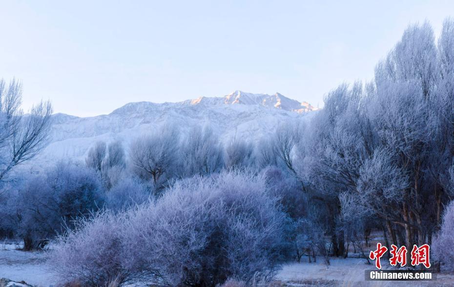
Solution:
{"label": "bare-branched tree at the left edge, spreading against sky and mountain", "polygon": [[32,159],[47,144],[52,105],[40,102],[29,114],[21,110],[22,84],[0,80],[0,181],[18,164]]}

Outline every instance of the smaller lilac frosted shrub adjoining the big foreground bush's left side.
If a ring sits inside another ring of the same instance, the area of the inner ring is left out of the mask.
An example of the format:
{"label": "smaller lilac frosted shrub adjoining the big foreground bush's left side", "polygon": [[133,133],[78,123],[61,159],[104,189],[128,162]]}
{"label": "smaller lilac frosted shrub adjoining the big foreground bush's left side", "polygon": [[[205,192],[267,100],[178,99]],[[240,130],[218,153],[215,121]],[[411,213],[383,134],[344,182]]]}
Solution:
{"label": "smaller lilac frosted shrub adjoining the big foreground bush's left side", "polygon": [[122,266],[123,217],[103,212],[95,219],[82,219],[76,228],[59,237],[49,262],[62,282],[81,286],[119,285],[131,279]]}

